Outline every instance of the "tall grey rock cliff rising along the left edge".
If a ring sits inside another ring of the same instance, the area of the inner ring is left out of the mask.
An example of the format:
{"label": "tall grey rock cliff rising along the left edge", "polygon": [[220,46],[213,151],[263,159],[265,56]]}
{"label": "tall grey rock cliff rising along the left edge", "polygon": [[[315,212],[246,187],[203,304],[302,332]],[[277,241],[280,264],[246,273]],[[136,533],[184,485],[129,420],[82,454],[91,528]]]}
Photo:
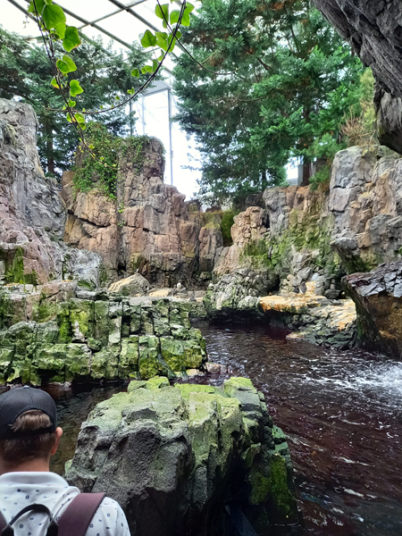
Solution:
{"label": "tall grey rock cliff rising along the left edge", "polygon": [[0,99],[0,283],[99,283],[101,258],[61,240],[65,206],[38,160],[31,106]]}

